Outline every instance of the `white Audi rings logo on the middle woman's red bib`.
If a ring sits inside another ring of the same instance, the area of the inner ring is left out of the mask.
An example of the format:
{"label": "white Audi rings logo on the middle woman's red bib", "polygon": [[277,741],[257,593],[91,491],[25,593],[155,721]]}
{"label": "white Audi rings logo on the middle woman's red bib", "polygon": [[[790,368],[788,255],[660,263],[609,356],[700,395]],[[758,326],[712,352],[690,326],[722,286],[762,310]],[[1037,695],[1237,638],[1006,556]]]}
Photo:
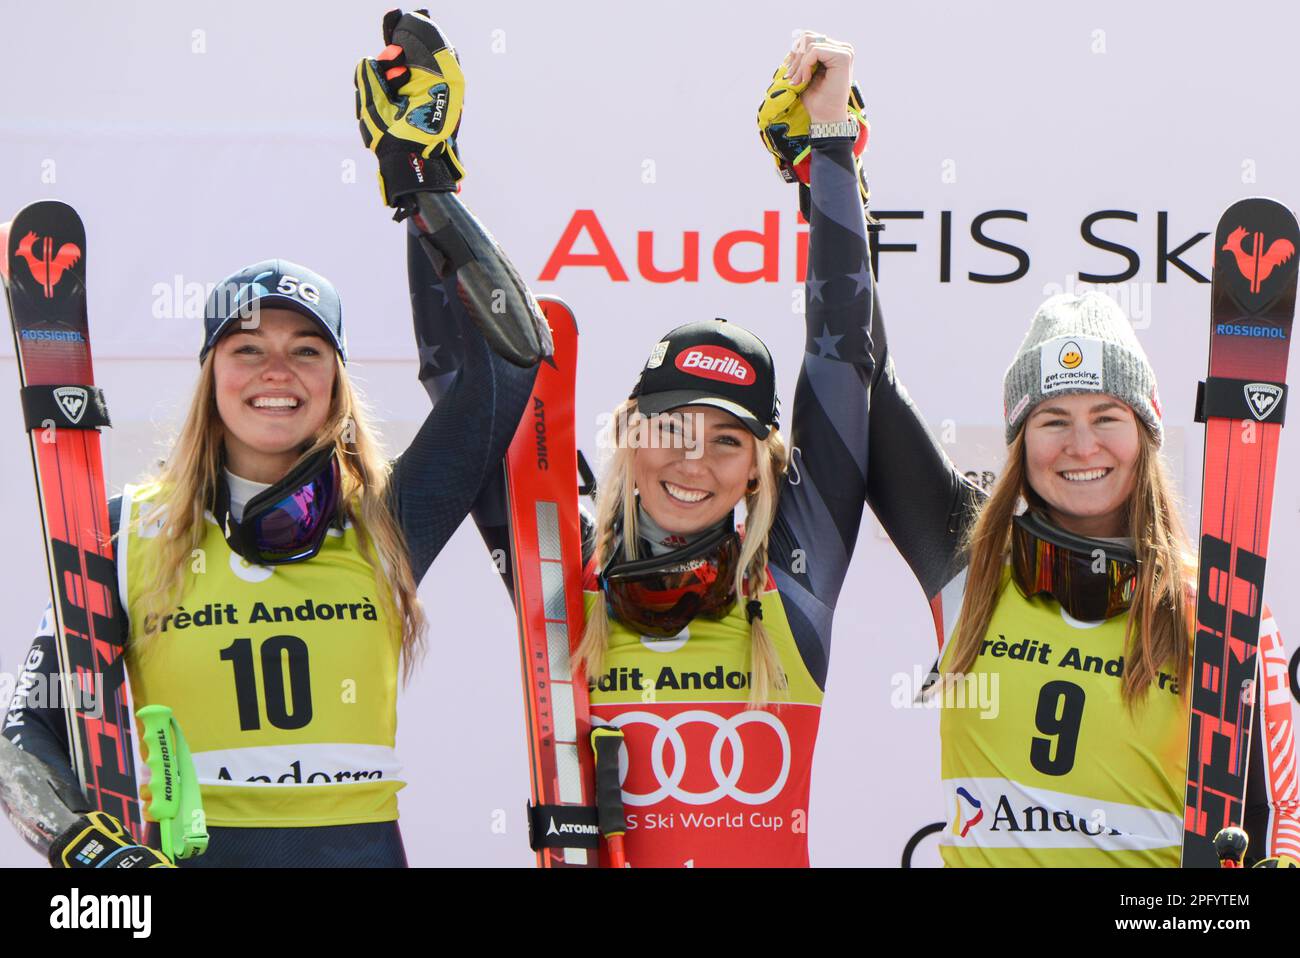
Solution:
{"label": "white Audi rings logo on the middle woman's red bib", "polygon": [[[740,776],[745,771],[745,744],[741,741],[741,728],[758,723],[767,725],[781,744],[781,768],[776,780],[762,792],[748,792],[740,788]],[[745,711],[731,718],[690,710],[677,715],[663,716],[646,711],[623,712],[615,724],[624,732],[630,725],[649,725],[655,731],[650,745],[650,771],[659,788],[638,794],[623,790],[623,803],[634,806],[656,805],[666,798],[675,798],[685,805],[712,805],[722,798],[733,798],[741,805],[766,805],[781,794],[785,780],[790,775],[790,734],[785,725],[771,712]],[[686,742],[681,736],[684,725],[712,725],[714,738],[708,745],[708,770],[712,772],[715,788],[707,792],[692,792],[681,786],[686,775]],[[672,772],[664,767],[664,753],[672,746]],[[731,745],[731,764],[723,767],[723,746]],[[619,784],[627,783],[628,749],[619,750]]]}

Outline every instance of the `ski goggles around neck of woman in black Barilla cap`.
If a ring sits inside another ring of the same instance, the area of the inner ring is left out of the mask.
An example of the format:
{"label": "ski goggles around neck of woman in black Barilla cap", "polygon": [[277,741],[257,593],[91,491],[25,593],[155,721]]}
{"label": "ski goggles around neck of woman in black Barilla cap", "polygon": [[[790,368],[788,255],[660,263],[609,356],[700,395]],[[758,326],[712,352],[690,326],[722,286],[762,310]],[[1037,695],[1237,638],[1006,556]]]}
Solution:
{"label": "ski goggles around neck of woman in black Barilla cap", "polygon": [[693,619],[723,619],[736,606],[740,536],[731,523],[667,555],[621,554],[619,542],[599,584],[610,615],[633,632],[670,638]]}

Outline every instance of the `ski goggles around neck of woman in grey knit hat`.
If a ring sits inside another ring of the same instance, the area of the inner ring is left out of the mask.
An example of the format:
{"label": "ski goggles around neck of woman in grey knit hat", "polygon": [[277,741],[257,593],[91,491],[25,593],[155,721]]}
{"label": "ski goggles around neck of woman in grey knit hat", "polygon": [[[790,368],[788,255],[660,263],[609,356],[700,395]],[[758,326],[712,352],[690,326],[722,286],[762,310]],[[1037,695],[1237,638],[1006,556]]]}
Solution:
{"label": "ski goggles around neck of woman in grey knit hat", "polygon": [[1050,595],[1072,619],[1095,623],[1132,604],[1138,555],[1128,546],[1075,536],[1026,512],[1011,521],[1011,572],[1026,598]]}

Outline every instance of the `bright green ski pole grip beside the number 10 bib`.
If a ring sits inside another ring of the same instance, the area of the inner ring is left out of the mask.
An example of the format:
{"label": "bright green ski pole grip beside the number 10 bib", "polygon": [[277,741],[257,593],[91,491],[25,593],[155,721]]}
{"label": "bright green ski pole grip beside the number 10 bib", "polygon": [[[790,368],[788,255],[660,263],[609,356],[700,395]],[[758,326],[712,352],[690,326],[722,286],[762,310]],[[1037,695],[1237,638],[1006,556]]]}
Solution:
{"label": "bright green ski pole grip beside the number 10 bib", "polygon": [[172,862],[202,855],[208,848],[203,796],[181,724],[166,706],[144,706],[135,718],[143,725],[140,754],[150,767],[140,799],[148,818],[159,823],[162,854]]}

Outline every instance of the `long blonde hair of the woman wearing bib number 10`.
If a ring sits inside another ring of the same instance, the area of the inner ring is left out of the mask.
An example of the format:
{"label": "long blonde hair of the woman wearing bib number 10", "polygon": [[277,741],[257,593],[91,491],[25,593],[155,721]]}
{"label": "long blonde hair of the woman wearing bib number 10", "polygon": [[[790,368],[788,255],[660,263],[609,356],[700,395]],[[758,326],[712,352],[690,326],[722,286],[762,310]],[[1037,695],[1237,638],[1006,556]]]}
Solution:
{"label": "long blonde hair of the woman wearing bib number 10", "polygon": [[[148,480],[159,485],[157,511],[151,515],[162,516],[164,524],[159,533],[157,562],[147,573],[134,610],[146,625],[181,602],[188,577],[194,575],[190,572],[192,552],[207,534],[203,513],[216,500],[221,481],[225,425],[217,412],[214,356],[213,351],[204,357],[185,424],[160,472]],[[403,675],[410,679],[424,646],[425,616],[416,595],[406,541],[389,507],[391,467],[380,448],[364,399],[338,355],[334,361],[337,372],[329,415],[316,441],[298,461],[334,447],[343,480],[339,519],[346,516],[352,521],[361,555],[378,573],[382,607],[402,620]],[[124,523],[126,519],[122,517]],[[134,650],[136,654],[147,651],[152,633],[142,628],[139,637],[144,641]]]}

